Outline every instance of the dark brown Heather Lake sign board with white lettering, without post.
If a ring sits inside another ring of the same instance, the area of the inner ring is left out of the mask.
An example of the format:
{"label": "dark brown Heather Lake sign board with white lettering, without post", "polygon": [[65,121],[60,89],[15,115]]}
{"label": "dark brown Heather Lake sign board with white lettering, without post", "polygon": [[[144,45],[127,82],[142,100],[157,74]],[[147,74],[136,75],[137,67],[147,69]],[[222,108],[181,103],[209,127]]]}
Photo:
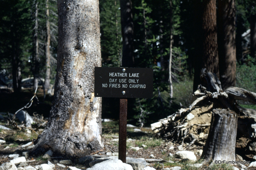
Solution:
{"label": "dark brown Heather Lake sign board with white lettering, without post", "polygon": [[153,97],[153,68],[95,67],[94,71],[95,97]]}

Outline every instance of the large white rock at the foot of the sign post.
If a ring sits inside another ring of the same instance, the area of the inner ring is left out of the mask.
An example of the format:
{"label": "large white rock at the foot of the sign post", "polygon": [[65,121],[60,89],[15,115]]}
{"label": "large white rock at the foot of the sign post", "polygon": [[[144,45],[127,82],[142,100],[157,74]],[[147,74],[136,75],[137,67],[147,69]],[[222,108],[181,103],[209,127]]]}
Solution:
{"label": "large white rock at the foot of the sign post", "polygon": [[86,170],[133,170],[133,169],[131,165],[125,164],[119,159],[110,159],[110,160],[95,164],[93,167],[88,168]]}

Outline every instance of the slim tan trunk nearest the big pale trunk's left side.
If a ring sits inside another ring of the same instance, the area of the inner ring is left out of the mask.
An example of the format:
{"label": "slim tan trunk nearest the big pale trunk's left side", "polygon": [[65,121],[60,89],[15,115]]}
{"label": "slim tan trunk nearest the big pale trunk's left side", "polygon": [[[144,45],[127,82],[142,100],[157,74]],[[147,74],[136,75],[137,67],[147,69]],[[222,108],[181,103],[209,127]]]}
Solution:
{"label": "slim tan trunk nearest the big pale trunk's left side", "polygon": [[46,45],[45,45],[46,72],[45,72],[45,80],[44,80],[44,93],[47,93],[50,87],[50,22],[49,22],[48,0],[45,1],[45,6],[46,6]]}

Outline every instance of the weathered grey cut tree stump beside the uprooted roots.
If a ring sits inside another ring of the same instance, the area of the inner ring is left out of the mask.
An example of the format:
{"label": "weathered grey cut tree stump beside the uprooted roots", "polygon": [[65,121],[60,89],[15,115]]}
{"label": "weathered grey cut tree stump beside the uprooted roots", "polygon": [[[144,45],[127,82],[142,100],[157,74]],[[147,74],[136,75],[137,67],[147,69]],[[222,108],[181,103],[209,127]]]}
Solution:
{"label": "weathered grey cut tree stump beside the uprooted roots", "polygon": [[213,110],[209,135],[201,156],[206,163],[235,160],[237,119],[233,111]]}

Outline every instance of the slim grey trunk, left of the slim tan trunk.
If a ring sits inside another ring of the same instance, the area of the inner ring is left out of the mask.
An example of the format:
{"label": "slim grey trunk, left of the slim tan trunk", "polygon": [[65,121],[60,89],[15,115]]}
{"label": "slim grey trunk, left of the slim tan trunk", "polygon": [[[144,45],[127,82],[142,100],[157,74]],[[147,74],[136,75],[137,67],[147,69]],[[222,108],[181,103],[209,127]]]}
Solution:
{"label": "slim grey trunk, left of the slim tan trunk", "polygon": [[38,1],[35,0],[35,34],[34,34],[34,43],[35,43],[35,54],[34,54],[34,65],[33,65],[33,76],[34,76],[34,90],[38,85],[38,74],[39,74],[39,45],[38,45]]}

